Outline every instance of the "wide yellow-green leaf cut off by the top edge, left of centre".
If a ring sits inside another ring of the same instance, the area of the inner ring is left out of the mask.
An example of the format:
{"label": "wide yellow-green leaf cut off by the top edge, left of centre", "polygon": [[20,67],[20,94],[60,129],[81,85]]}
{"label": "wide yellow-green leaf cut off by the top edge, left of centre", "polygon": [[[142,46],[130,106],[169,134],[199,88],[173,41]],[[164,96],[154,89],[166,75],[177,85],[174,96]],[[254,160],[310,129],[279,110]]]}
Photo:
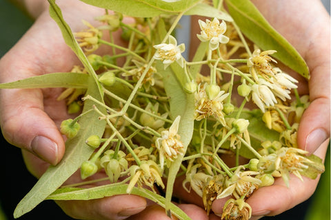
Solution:
{"label": "wide yellow-green leaf cut off by the top edge, left of centre", "polygon": [[[162,0],[81,0],[99,8],[106,8],[132,17],[156,17],[160,14],[178,14],[191,8],[201,0],[181,0],[165,2]],[[139,10],[137,10],[139,9]]]}

